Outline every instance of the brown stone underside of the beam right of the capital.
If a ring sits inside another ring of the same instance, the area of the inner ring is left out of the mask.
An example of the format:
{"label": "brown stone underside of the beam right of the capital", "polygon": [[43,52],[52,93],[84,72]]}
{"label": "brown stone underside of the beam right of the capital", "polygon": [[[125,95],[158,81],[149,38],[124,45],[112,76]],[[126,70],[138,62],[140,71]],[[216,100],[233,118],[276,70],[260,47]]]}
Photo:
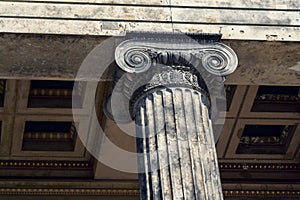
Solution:
{"label": "brown stone underside of the beam right of the capital", "polygon": [[299,85],[300,43],[224,41],[238,55],[237,70],[227,83],[239,85]]}

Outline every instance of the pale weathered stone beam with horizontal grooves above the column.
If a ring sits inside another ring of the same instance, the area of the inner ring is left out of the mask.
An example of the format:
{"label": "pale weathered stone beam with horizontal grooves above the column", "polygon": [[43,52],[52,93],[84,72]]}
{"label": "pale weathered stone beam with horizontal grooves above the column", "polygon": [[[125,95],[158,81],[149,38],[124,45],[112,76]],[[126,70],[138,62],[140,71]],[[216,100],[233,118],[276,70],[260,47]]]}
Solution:
{"label": "pale weathered stone beam with horizontal grooves above the column", "polygon": [[220,32],[226,39],[299,41],[299,17],[297,0],[0,2],[0,29],[6,33]]}

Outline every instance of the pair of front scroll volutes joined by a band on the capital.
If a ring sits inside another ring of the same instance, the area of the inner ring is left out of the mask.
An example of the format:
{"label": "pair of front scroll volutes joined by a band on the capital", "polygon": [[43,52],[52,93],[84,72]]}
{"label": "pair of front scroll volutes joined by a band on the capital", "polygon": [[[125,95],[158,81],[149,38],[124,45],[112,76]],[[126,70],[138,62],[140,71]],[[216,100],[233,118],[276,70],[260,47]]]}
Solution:
{"label": "pair of front scroll volutes joined by a band on the capital", "polygon": [[235,52],[222,43],[177,44],[135,39],[122,42],[115,51],[116,62],[120,68],[130,73],[147,71],[151,65],[177,65],[204,67],[209,73],[226,76],[237,67]]}

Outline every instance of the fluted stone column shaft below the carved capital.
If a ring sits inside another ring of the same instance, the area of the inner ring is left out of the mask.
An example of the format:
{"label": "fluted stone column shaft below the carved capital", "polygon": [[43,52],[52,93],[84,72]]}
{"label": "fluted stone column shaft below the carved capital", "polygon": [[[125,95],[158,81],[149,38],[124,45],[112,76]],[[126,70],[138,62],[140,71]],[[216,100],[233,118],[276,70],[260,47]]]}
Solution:
{"label": "fluted stone column shaft below the carved capital", "polygon": [[137,101],[141,199],[223,199],[207,98],[158,87]]}

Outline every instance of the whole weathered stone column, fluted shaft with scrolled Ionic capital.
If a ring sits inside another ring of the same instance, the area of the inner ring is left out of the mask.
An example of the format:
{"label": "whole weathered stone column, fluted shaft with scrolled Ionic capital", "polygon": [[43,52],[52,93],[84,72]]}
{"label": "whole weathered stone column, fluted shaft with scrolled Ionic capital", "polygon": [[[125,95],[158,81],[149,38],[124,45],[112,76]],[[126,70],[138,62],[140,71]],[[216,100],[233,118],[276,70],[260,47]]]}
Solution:
{"label": "whole weathered stone column, fluted shaft with scrolled Ionic capital", "polygon": [[237,58],[215,36],[198,38],[131,39],[116,49],[117,64],[129,73],[117,87],[136,122],[143,200],[223,199],[210,93]]}

